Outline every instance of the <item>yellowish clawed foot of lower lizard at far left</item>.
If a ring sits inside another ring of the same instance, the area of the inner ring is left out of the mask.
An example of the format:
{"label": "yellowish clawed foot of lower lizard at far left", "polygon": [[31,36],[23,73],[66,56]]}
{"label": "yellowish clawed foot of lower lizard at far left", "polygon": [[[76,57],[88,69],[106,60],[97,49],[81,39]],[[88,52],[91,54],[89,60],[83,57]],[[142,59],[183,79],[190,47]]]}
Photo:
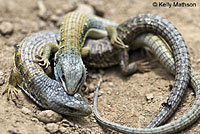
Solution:
{"label": "yellowish clawed foot of lower lizard at far left", "polygon": [[2,95],[7,93],[7,99],[8,100],[15,100],[18,99],[18,92],[19,90],[17,88],[15,88],[14,86],[8,84],[8,88],[3,92]]}

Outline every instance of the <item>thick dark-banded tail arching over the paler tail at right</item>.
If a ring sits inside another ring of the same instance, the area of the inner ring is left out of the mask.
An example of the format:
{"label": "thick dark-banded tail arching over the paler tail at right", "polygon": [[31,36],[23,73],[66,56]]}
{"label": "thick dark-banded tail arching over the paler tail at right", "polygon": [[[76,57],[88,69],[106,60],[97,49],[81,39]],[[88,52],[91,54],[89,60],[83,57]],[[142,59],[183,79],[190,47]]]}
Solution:
{"label": "thick dark-banded tail arching over the paler tail at right", "polygon": [[169,21],[153,14],[142,14],[130,18],[120,24],[117,30],[125,44],[133,44],[138,35],[151,32],[161,36],[172,49],[176,67],[175,83],[167,102],[163,103],[163,109],[153,121],[152,125],[158,126],[175,112],[188,85],[190,60],[187,46],[179,31]]}

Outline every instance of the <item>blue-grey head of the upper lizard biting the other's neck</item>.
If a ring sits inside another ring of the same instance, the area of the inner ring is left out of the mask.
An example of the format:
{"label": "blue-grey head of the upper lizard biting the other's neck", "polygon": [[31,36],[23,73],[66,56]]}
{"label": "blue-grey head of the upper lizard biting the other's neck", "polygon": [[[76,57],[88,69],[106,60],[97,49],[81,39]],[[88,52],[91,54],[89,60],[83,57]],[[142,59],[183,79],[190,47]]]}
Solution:
{"label": "blue-grey head of the upper lizard biting the other's neck", "polygon": [[63,54],[55,56],[54,74],[57,81],[60,81],[65,91],[73,95],[82,88],[87,71],[80,54]]}

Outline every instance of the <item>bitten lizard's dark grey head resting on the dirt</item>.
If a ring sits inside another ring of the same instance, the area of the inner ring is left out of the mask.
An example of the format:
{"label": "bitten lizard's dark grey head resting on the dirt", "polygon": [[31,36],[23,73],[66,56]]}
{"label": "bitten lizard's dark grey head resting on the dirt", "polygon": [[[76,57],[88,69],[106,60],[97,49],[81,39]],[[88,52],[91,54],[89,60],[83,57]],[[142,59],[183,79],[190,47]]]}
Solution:
{"label": "bitten lizard's dark grey head resting on the dirt", "polygon": [[92,110],[87,102],[79,93],[68,95],[65,89],[58,81],[52,81],[52,85],[56,88],[49,90],[50,96],[42,101],[47,104],[49,109],[52,109],[60,114],[67,116],[88,116]]}

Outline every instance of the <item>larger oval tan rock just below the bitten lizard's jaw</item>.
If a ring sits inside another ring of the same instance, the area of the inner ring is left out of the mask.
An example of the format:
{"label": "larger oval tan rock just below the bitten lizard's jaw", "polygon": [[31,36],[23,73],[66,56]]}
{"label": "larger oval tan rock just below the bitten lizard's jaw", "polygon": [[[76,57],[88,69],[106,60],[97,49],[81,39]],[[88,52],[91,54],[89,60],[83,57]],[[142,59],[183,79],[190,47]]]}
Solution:
{"label": "larger oval tan rock just below the bitten lizard's jaw", "polygon": [[45,123],[58,122],[62,120],[62,116],[52,110],[45,110],[37,115],[37,118]]}

